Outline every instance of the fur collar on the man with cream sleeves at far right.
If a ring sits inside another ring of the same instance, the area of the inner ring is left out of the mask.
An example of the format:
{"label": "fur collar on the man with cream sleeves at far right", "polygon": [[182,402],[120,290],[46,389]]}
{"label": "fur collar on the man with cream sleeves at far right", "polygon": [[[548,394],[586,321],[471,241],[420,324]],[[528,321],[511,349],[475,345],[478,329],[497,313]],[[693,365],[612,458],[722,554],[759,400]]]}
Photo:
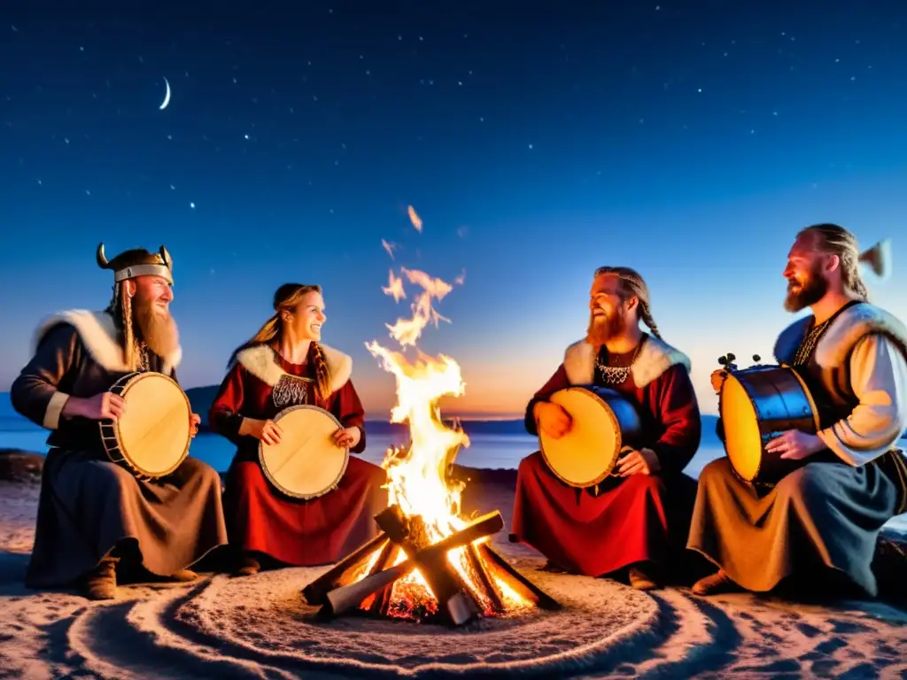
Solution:
{"label": "fur collar on the man with cream sleeves at far right", "polygon": [[[788,325],[775,342],[775,359],[779,362],[792,361],[796,348],[803,340],[813,316],[805,316]],[[853,345],[864,335],[879,333],[888,335],[907,349],[907,328],[901,321],[882,307],[861,302],[849,306],[839,314],[815,347],[815,361],[820,366],[834,367],[844,364]]]}

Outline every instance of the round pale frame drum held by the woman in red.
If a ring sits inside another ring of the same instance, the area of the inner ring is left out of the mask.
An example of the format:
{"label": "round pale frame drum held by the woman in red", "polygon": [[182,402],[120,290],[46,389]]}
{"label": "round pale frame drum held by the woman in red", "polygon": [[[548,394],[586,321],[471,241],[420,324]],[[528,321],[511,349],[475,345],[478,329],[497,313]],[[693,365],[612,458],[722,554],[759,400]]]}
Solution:
{"label": "round pale frame drum held by the woman in red", "polygon": [[274,418],[277,444],[258,442],[258,461],[268,480],[291,498],[315,499],[336,489],[346,472],[349,449],[331,438],[343,425],[311,404],[290,406]]}

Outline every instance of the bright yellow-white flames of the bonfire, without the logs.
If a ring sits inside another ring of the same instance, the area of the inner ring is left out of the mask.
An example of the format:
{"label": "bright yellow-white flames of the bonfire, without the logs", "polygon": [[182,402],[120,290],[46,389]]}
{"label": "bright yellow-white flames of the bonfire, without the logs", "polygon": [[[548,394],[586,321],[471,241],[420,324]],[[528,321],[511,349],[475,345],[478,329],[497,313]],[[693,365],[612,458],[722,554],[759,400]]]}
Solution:
{"label": "bright yellow-white flames of the bonfire, without the logs", "polygon": [[[419,224],[421,227],[421,220]],[[383,288],[386,295],[393,296],[398,302],[406,297],[404,277],[410,284],[421,287],[422,292],[414,299],[411,318],[399,318],[394,325],[387,325],[401,351],[391,351],[377,342],[366,343],[366,347],[381,360],[384,369],[396,377],[397,403],[391,411],[391,421],[409,425],[410,442],[402,447],[392,446],[382,463],[388,477],[388,503],[399,506],[408,517],[421,516],[428,539],[434,544],[469,523],[460,510],[464,485],[447,478],[447,471],[460,447],[469,446],[469,437],[460,429],[447,427],[438,406],[445,395],[462,395],[465,384],[460,366],[453,358],[427,356],[416,346],[427,325],[437,327],[442,320],[450,323],[434,309],[433,300],[441,300],[453,287],[422,271],[401,267],[400,276],[391,270],[389,284]],[[412,360],[404,355],[407,347],[415,352]],[[478,539],[473,545],[481,545],[487,540],[487,537]],[[375,568],[379,552],[375,550],[375,554],[366,560],[353,582],[364,578]],[[475,554],[473,550],[473,556]],[[475,573],[468,548],[451,549],[446,558],[481,604],[484,613],[495,613],[495,603],[486,588],[480,585],[482,578]],[[391,566],[404,560],[405,554],[400,551]],[[493,565],[482,560],[485,562],[482,568],[491,577],[493,588],[505,610],[532,607],[532,602],[514,591]],[[372,598],[367,599],[361,608],[367,610],[371,604]],[[434,594],[419,569],[395,582],[387,607],[389,615],[411,618],[417,617],[417,612],[434,613],[436,610]]]}

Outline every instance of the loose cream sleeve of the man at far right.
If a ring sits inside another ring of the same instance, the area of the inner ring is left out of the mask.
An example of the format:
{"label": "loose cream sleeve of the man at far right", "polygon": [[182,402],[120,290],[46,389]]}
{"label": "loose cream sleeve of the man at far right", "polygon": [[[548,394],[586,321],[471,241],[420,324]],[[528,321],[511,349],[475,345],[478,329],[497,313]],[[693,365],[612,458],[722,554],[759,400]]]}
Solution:
{"label": "loose cream sleeve of the man at far right", "polygon": [[867,335],[853,348],[850,373],[860,403],[817,434],[839,458],[858,466],[888,451],[907,428],[907,360],[888,337]]}

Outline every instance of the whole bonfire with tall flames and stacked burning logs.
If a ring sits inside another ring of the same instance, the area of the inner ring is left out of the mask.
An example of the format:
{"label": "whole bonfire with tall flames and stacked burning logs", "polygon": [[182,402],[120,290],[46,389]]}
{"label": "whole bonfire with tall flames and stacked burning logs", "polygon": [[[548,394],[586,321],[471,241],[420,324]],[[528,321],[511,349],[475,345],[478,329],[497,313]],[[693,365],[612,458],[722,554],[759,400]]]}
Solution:
{"label": "whole bonfire with tall flames and stacked burning logs", "polygon": [[[422,221],[413,209],[410,217],[421,230]],[[399,275],[391,270],[385,294],[396,302],[406,299],[405,280],[421,292],[414,298],[410,318],[387,325],[400,349],[366,343],[396,378],[391,422],[405,423],[409,430],[409,442],[392,446],[385,454],[388,508],[375,517],[382,533],[303,593],[329,615],[364,613],[455,625],[474,617],[518,614],[530,607],[556,608],[551,597],[492,549],[490,536],[503,527],[499,512],[463,516],[464,482],[453,481],[451,472],[457,452],[469,446],[469,437],[458,425],[444,423],[439,403],[444,396],[463,395],[465,384],[453,358],[428,356],[417,346],[428,325],[450,323],[434,309],[434,302],[453,286],[401,267]],[[455,283],[462,284],[463,277]]]}

